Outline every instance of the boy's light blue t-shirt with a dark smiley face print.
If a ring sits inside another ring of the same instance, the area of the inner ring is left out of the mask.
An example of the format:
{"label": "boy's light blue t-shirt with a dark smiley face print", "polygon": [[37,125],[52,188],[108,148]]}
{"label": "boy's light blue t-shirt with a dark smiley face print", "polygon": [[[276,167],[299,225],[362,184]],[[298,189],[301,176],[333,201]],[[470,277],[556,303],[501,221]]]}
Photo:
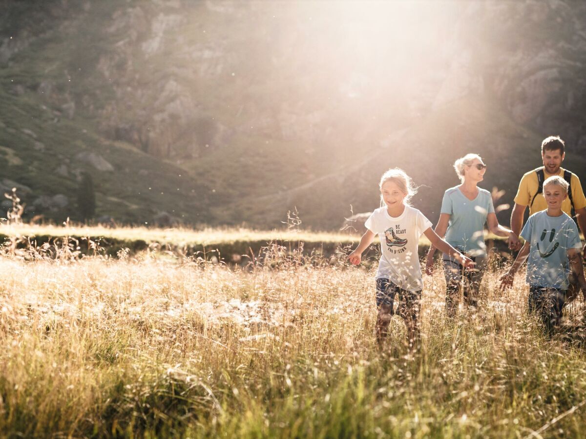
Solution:
{"label": "boy's light blue t-shirt with a dark smiley face print", "polygon": [[527,283],[530,286],[568,288],[568,249],[580,249],[580,235],[572,218],[550,217],[543,210],[527,219],[521,236],[530,243]]}

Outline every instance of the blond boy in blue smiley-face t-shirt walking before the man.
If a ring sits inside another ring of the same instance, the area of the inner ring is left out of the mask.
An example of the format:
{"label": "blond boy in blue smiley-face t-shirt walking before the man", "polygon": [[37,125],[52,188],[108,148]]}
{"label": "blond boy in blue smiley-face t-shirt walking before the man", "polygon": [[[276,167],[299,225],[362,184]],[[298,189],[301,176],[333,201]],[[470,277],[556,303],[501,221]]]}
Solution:
{"label": "blond boy in blue smiley-face t-shirt walking before the man", "polygon": [[525,239],[509,272],[500,278],[501,289],[510,287],[519,267],[527,262],[529,311],[539,311],[548,334],[560,323],[571,272],[586,298],[586,280],[580,250],[580,235],[574,220],[561,210],[568,196],[568,183],[559,176],[543,182],[547,210],[529,217],[521,236]]}

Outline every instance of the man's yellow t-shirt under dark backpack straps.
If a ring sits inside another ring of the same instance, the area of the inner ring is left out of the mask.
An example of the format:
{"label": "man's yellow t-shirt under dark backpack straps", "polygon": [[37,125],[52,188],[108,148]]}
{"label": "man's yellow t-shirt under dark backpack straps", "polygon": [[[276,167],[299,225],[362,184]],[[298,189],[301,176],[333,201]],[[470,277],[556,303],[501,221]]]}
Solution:
{"label": "man's yellow t-shirt under dark backpack straps", "polygon": [[[548,174],[545,170],[544,175],[545,180],[551,177],[551,174]],[[561,178],[564,178],[564,169],[560,167],[560,171],[557,173],[557,175]],[[531,200],[533,199],[533,196],[537,193],[538,188],[539,181],[537,180],[537,173],[535,172],[535,170],[525,173],[523,178],[521,179],[521,182],[519,183],[519,190],[517,191],[517,195],[515,196],[515,203],[520,204],[522,206],[528,206],[529,204],[531,204]],[[584,191],[582,191],[580,179],[578,179],[578,176],[574,173],[572,174],[571,178],[571,191],[574,200],[574,210],[586,207],[586,197],[584,197]],[[529,208],[529,215],[533,215],[535,212],[540,212],[546,209],[546,199],[543,197],[543,194],[539,194],[537,197],[535,197],[533,205]],[[570,197],[568,197],[564,200],[564,203],[562,203],[561,210],[563,210],[568,215],[571,215],[571,209],[572,204],[570,203]]]}

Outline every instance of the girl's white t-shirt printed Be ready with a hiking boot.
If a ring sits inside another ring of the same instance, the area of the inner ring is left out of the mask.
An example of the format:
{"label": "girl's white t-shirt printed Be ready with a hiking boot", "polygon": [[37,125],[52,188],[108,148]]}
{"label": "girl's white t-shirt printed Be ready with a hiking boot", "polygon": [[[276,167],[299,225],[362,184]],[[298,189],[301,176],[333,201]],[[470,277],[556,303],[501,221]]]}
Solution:
{"label": "girl's white t-shirt printed Be ready with a hiking boot", "polygon": [[376,278],[389,279],[408,291],[423,289],[417,248],[420,236],[432,225],[430,220],[411,206],[405,206],[400,216],[391,217],[384,206],[372,212],[364,225],[380,236],[381,255]]}

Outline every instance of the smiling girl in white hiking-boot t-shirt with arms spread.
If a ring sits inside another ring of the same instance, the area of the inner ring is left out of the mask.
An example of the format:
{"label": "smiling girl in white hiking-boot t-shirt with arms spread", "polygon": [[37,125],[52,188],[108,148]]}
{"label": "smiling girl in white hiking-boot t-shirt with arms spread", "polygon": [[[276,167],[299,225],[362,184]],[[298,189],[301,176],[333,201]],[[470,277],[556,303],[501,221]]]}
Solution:
{"label": "smiling girl in white hiking-boot t-shirt with arms spread", "polygon": [[411,178],[401,169],[389,169],[380,179],[381,207],[366,220],[366,233],[362,235],[356,250],[349,260],[359,265],[362,253],[380,237],[379,269],[376,273],[376,337],[379,344],[387,336],[393,301],[398,294],[398,314],[407,327],[407,342],[411,350],[417,349],[420,341],[419,314],[421,310],[421,266],[418,243],[425,235],[440,251],[452,255],[462,266],[472,267],[471,259],[438,236],[431,228],[429,219],[411,207],[409,201],[417,193]]}

